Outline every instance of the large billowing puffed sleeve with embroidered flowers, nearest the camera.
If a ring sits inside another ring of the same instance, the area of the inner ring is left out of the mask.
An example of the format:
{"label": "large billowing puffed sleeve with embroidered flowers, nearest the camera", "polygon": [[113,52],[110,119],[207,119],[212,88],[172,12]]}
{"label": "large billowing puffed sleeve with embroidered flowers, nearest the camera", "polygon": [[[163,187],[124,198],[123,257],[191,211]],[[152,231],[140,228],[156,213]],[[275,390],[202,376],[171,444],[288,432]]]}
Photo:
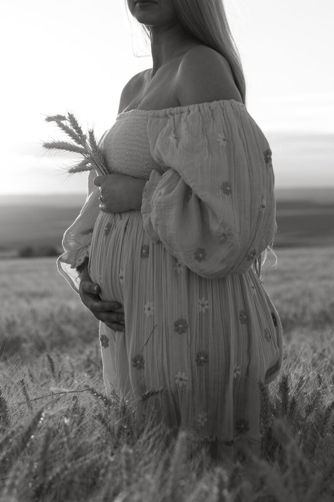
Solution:
{"label": "large billowing puffed sleeve with embroidered flowers, nearest the camera", "polygon": [[164,173],[144,188],[145,232],[206,279],[244,273],[277,229],[270,147],[242,103],[186,108],[149,116]]}

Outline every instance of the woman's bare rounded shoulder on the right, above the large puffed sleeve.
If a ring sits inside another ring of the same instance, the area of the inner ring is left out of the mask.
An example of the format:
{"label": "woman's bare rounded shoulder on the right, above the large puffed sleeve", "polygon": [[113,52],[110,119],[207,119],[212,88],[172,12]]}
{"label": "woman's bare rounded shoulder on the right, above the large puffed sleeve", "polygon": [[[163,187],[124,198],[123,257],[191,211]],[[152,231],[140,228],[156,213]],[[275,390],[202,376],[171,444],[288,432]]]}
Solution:
{"label": "woman's bare rounded shoulder on the right, above the large puffed sleeve", "polygon": [[242,102],[227,59],[206,45],[197,45],[183,56],[177,74],[177,98],[181,106],[221,99]]}

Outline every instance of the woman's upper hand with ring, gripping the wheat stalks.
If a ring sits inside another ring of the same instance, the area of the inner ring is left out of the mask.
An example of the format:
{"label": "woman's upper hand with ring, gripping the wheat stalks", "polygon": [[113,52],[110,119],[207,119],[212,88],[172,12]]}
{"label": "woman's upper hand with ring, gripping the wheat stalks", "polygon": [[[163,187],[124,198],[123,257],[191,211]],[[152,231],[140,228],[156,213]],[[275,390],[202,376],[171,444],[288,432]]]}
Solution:
{"label": "woman's upper hand with ring, gripping the wheat stalks", "polygon": [[97,176],[94,184],[100,187],[100,209],[105,213],[121,213],[142,206],[143,190],[146,180],[125,174],[106,174]]}

